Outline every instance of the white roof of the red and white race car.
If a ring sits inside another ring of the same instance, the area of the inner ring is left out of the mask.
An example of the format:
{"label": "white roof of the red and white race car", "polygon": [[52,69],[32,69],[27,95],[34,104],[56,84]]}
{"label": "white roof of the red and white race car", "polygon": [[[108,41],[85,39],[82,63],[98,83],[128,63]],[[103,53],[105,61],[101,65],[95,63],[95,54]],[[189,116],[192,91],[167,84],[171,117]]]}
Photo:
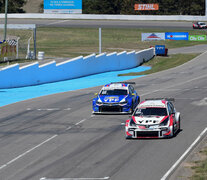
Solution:
{"label": "white roof of the red and white race car", "polygon": [[166,108],[167,102],[167,100],[145,100],[138,105],[138,108]]}

